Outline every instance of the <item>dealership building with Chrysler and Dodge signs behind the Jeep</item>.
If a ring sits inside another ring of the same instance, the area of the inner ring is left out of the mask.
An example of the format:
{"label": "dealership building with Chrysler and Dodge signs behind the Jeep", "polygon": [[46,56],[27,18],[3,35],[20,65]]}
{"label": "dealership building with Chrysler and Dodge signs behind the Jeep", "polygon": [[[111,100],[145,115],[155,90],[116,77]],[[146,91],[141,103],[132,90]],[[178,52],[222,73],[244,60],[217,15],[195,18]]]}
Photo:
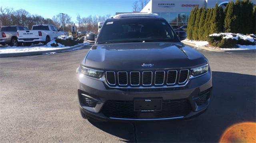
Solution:
{"label": "dealership building with Chrysler and Dodge signs behind the Jeep", "polygon": [[192,8],[196,6],[213,8],[216,2],[219,6],[225,7],[229,0],[150,0],[140,12],[158,14],[170,25],[182,26],[188,24]]}

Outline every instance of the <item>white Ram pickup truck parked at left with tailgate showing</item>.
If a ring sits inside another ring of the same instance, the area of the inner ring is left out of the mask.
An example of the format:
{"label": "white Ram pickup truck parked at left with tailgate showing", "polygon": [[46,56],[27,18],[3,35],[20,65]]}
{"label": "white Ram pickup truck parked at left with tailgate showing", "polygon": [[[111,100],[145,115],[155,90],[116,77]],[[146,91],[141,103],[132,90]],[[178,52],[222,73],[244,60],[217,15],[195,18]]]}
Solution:
{"label": "white Ram pickup truck parked at left with tailgate showing", "polygon": [[60,35],[64,35],[64,33],[50,24],[33,25],[32,30],[17,31],[18,42],[24,43],[24,45],[46,44]]}

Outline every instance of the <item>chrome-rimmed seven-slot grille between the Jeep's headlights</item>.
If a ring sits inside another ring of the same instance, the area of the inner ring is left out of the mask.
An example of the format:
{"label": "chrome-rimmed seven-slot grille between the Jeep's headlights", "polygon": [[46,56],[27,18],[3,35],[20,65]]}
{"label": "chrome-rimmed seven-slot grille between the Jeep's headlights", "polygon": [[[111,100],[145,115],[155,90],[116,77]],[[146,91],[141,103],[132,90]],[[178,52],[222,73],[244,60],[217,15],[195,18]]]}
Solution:
{"label": "chrome-rimmed seven-slot grille between the Jeep's headlights", "polygon": [[185,84],[189,70],[166,71],[106,71],[106,81],[112,87],[151,87]]}

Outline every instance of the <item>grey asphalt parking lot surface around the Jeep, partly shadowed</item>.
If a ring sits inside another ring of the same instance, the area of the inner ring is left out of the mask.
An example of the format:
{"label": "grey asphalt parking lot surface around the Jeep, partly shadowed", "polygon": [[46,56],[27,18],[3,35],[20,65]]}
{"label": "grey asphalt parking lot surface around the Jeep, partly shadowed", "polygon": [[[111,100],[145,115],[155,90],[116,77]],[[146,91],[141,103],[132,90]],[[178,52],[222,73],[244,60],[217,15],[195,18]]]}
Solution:
{"label": "grey asphalt parking lot surface around the Jeep, partly shadowed", "polygon": [[256,121],[255,53],[198,49],[210,61],[213,96],[190,120],[93,123],[80,116],[76,68],[88,49],[0,58],[0,142],[218,142]]}

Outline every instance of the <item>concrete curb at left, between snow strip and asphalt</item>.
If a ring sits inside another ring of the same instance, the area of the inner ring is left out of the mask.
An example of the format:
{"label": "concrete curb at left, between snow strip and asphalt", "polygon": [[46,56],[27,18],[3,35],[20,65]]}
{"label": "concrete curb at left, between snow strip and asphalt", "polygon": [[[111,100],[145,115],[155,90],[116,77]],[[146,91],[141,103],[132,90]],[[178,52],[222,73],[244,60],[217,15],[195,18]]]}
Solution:
{"label": "concrete curb at left, between snow strip and asphalt", "polygon": [[32,56],[32,55],[42,55],[45,53],[61,53],[66,52],[68,50],[75,49],[77,47],[81,47],[81,49],[86,49],[92,47],[92,45],[75,45],[69,48],[57,49],[57,50],[49,50],[49,51],[33,51],[33,52],[24,52],[24,53],[3,53],[0,54],[0,58],[2,57],[19,57],[19,56]]}

